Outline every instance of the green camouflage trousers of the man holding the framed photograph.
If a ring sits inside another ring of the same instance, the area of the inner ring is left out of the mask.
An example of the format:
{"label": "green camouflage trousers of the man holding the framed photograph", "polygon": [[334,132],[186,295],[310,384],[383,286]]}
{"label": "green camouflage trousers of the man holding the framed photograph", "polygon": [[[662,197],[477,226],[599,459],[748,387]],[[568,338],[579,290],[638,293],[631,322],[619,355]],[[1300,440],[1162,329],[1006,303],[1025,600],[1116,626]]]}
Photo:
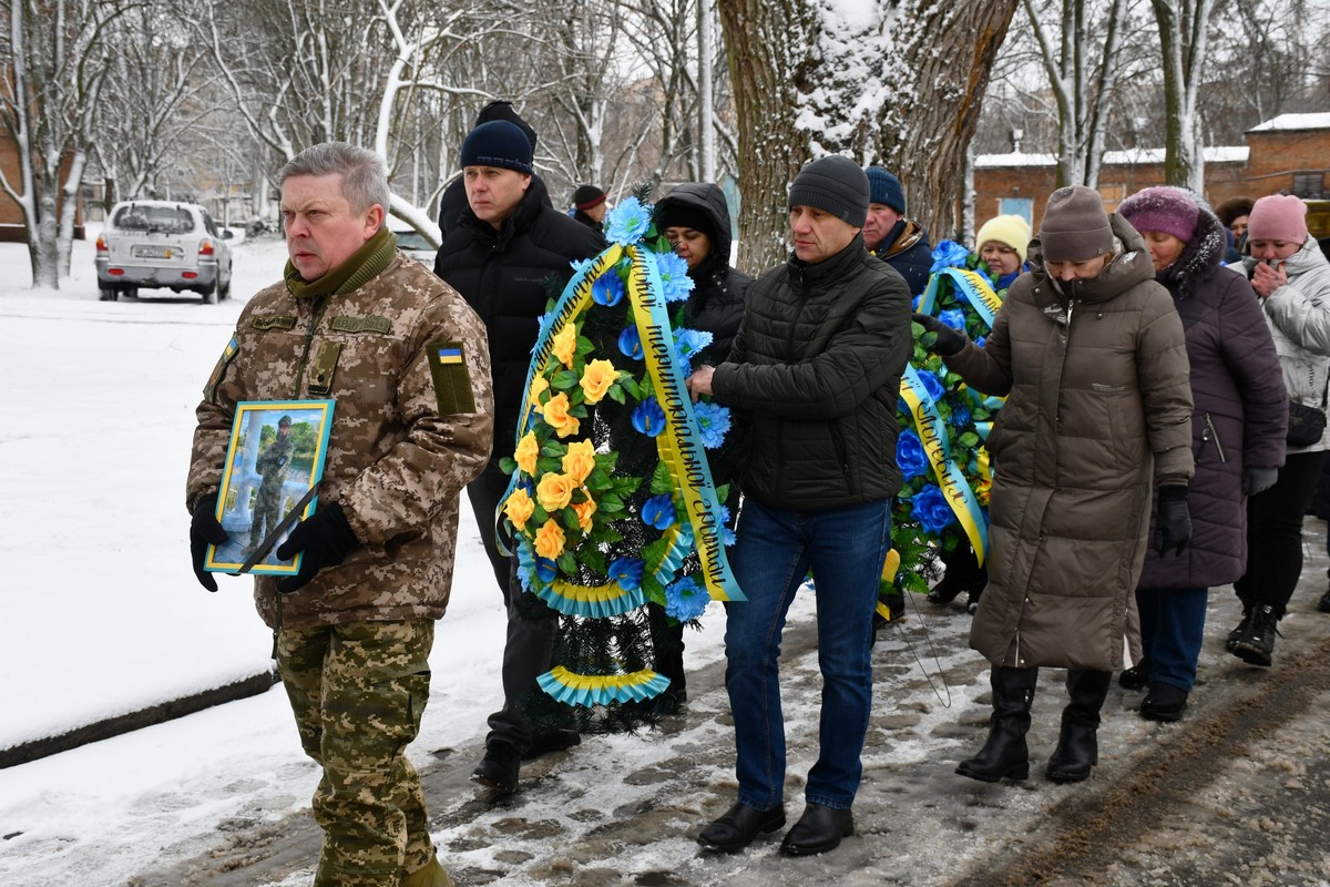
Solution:
{"label": "green camouflage trousers of the man holding the framed photograph", "polygon": [[315,887],[396,887],[434,859],[406,758],[430,697],[434,621],[282,630],[277,664],[305,753],[323,767]]}

